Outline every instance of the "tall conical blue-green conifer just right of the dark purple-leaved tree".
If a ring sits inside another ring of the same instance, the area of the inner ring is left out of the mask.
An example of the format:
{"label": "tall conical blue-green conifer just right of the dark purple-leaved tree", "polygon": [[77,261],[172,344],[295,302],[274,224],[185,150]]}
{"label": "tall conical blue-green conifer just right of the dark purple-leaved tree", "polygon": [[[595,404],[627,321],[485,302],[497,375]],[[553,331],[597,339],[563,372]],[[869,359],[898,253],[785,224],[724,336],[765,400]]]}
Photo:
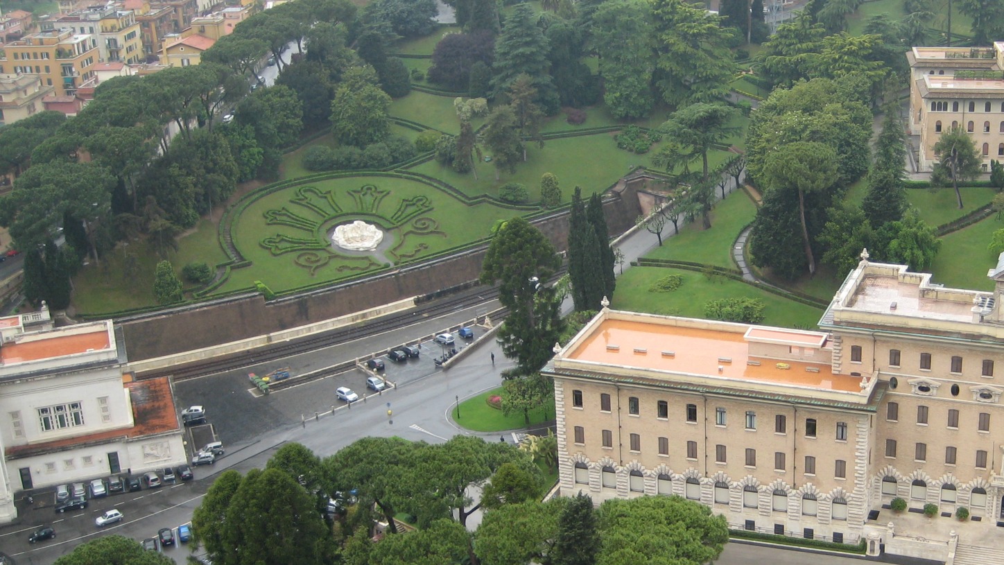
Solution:
{"label": "tall conical blue-green conifer just right of the dark purple-leaved tree", "polygon": [[558,110],[559,100],[547,58],[550,44],[535,25],[535,19],[529,4],[517,4],[513,14],[506,18],[502,34],[495,42],[492,95],[504,96],[519,75],[525,73],[537,90],[534,103],[552,114]]}

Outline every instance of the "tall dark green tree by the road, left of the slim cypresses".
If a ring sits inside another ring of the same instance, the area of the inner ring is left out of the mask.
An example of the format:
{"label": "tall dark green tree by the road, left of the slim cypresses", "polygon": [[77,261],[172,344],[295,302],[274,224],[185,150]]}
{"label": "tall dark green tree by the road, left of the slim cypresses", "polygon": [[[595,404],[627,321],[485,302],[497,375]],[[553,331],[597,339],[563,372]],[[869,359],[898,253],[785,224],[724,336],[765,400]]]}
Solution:
{"label": "tall dark green tree by the road, left of the slim cypresses", "polygon": [[499,302],[509,309],[498,340],[522,374],[547,362],[563,329],[555,291],[545,284],[560,263],[554,246],[522,218],[506,221],[485,255],[481,282],[498,282]]}

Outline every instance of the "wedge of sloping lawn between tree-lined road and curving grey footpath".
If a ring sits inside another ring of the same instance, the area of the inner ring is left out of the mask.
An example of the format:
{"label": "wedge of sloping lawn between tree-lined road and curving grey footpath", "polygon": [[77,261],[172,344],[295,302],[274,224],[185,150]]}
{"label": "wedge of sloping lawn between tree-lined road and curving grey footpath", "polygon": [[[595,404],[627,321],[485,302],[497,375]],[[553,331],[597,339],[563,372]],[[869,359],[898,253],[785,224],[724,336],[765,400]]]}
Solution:
{"label": "wedge of sloping lawn between tree-lined road and curving grey footpath", "polygon": [[692,261],[735,269],[736,264],[732,261],[732,244],[739,237],[739,232],[743,231],[755,216],[756,205],[749,196],[743,191],[734,191],[711,211],[710,229],[702,229],[701,219],[697,218],[681,229],[679,234],[667,238],[667,235],[673,233],[673,223],[667,222],[663,246],[652,250],[646,257]]}

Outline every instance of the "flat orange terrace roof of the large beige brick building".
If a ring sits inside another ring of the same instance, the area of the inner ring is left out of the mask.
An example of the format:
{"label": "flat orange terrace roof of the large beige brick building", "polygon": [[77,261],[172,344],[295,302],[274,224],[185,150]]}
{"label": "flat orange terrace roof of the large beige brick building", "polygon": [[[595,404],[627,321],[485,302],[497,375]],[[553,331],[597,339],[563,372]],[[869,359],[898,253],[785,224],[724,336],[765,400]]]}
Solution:
{"label": "flat orange terrace roof of the large beige brick building", "polygon": [[[754,329],[747,326],[747,332]],[[797,331],[756,327],[762,336],[796,339]],[[817,332],[804,332],[803,339]],[[807,345],[806,343],[803,343]],[[832,374],[828,355],[819,363],[753,356],[744,332],[605,318],[564,358],[667,373],[702,374],[843,392],[858,392],[860,377]],[[748,361],[753,362],[750,364]],[[721,368],[721,370],[719,370]]]}

